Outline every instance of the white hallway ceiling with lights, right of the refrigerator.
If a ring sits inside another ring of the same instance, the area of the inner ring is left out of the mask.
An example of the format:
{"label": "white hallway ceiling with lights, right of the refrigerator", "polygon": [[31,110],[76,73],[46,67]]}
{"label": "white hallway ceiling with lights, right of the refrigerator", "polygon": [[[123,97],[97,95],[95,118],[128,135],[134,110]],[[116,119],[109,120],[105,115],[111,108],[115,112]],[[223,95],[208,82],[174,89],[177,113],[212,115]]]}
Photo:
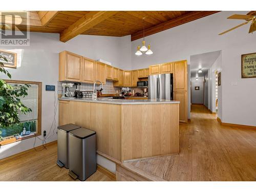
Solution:
{"label": "white hallway ceiling with lights, right of the refrigerator", "polygon": [[[211,65],[220,56],[221,51],[214,51],[209,53],[202,53],[190,56],[190,73],[191,78],[203,77],[207,73]],[[202,69],[203,73],[198,74],[198,70]]]}

